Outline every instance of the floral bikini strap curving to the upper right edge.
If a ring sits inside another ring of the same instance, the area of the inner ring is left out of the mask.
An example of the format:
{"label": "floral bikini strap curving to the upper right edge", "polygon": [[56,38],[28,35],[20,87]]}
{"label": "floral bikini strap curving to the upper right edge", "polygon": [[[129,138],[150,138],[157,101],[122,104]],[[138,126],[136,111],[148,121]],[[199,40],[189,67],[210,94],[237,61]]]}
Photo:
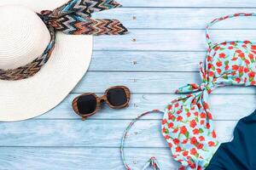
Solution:
{"label": "floral bikini strap curving to the upper right edge", "polygon": [[240,17],[240,16],[256,16],[255,13],[237,13],[237,14],[230,14],[230,15],[226,15],[224,17],[220,17],[220,18],[217,18],[215,20],[212,20],[212,22],[210,22],[209,24],[207,24],[207,27],[206,27],[206,37],[207,37],[207,43],[208,43],[208,46],[209,48],[212,48],[213,44],[212,44],[212,39],[209,35],[209,28],[211,26],[213,26],[215,23],[217,23],[218,21],[221,21],[221,20],[226,20],[226,19],[230,19],[230,18],[233,18],[233,17]]}

